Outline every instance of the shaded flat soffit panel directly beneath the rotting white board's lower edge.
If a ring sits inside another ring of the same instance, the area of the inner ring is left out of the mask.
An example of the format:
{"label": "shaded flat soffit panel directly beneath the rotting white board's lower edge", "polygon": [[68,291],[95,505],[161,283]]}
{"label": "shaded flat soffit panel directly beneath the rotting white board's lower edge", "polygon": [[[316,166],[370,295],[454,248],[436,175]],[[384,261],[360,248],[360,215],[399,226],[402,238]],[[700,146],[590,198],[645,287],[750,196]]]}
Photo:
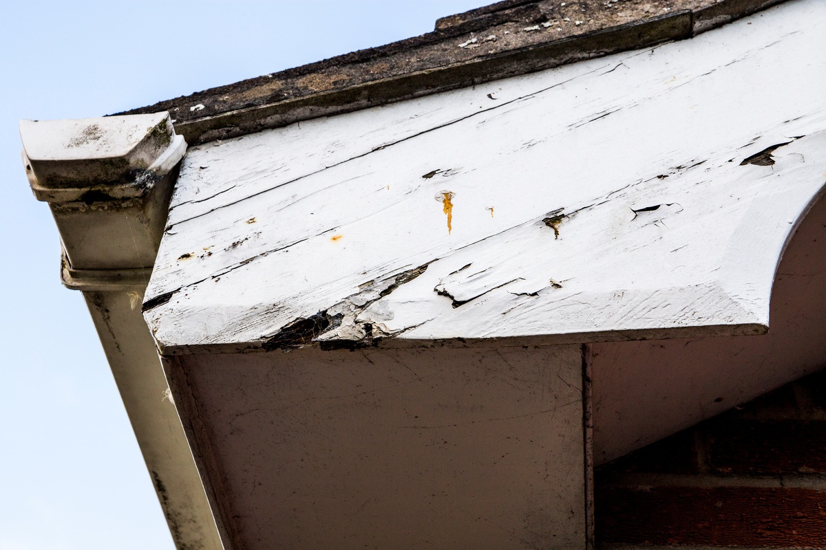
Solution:
{"label": "shaded flat soffit panel directly beneath the rotting white board's lower edge", "polygon": [[581,346],[172,362],[234,548],[585,548]]}

